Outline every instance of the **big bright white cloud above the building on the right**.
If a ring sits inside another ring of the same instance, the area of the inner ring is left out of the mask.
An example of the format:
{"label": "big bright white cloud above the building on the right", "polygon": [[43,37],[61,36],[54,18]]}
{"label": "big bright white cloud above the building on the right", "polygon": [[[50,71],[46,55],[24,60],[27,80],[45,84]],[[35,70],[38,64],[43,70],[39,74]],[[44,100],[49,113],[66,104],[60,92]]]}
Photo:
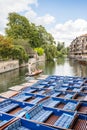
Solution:
{"label": "big bright white cloud above the building on the right", "polygon": [[56,24],[50,32],[56,41],[63,41],[68,46],[77,36],[87,33],[87,21],[84,19],[69,20],[63,24]]}

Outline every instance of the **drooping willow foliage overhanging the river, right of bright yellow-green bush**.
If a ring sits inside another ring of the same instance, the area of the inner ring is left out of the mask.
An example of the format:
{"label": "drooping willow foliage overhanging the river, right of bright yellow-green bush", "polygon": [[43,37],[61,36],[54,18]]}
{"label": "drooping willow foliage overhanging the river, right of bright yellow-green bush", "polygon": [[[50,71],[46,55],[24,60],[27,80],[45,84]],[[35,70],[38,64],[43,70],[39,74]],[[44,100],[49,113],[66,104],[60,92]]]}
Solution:
{"label": "drooping willow foliage overhanging the river, right of bright yellow-green bush", "polygon": [[56,57],[57,49],[55,45],[43,45],[44,52],[47,60],[53,60]]}

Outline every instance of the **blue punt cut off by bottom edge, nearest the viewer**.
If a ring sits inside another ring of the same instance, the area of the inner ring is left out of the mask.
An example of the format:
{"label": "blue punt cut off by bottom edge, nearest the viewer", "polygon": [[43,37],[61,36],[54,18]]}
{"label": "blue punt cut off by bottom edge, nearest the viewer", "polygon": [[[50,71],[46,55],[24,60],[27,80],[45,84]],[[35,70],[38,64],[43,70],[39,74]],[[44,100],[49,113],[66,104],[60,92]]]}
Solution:
{"label": "blue punt cut off by bottom edge, nearest the viewer", "polygon": [[40,123],[27,121],[25,119],[17,119],[7,127],[4,127],[4,130],[61,130],[55,129],[49,126],[45,126]]}

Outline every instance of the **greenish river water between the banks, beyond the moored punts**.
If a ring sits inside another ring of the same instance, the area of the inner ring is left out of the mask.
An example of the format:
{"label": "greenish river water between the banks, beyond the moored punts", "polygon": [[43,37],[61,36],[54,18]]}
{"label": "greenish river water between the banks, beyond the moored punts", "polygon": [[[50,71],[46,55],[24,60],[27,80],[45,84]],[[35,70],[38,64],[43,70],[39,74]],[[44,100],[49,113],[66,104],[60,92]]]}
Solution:
{"label": "greenish river water between the banks, beyond the moored punts", "polygon": [[[48,61],[40,63],[39,67],[43,69],[46,75],[87,76],[87,66],[80,65],[76,61],[68,58],[60,58],[55,60],[55,62]],[[30,80],[31,77],[25,76],[27,72],[28,68],[24,67],[0,74],[0,93],[7,91],[11,86]]]}

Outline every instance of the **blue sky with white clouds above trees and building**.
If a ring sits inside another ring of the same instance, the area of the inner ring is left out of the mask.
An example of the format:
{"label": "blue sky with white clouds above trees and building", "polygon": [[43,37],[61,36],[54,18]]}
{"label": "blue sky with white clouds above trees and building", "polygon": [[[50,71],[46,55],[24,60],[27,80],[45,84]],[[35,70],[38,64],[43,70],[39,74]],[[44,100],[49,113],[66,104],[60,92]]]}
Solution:
{"label": "blue sky with white clouds above trees and building", "polygon": [[19,13],[36,25],[44,26],[55,41],[69,46],[87,33],[87,0],[0,0],[0,34],[5,34],[7,17]]}

